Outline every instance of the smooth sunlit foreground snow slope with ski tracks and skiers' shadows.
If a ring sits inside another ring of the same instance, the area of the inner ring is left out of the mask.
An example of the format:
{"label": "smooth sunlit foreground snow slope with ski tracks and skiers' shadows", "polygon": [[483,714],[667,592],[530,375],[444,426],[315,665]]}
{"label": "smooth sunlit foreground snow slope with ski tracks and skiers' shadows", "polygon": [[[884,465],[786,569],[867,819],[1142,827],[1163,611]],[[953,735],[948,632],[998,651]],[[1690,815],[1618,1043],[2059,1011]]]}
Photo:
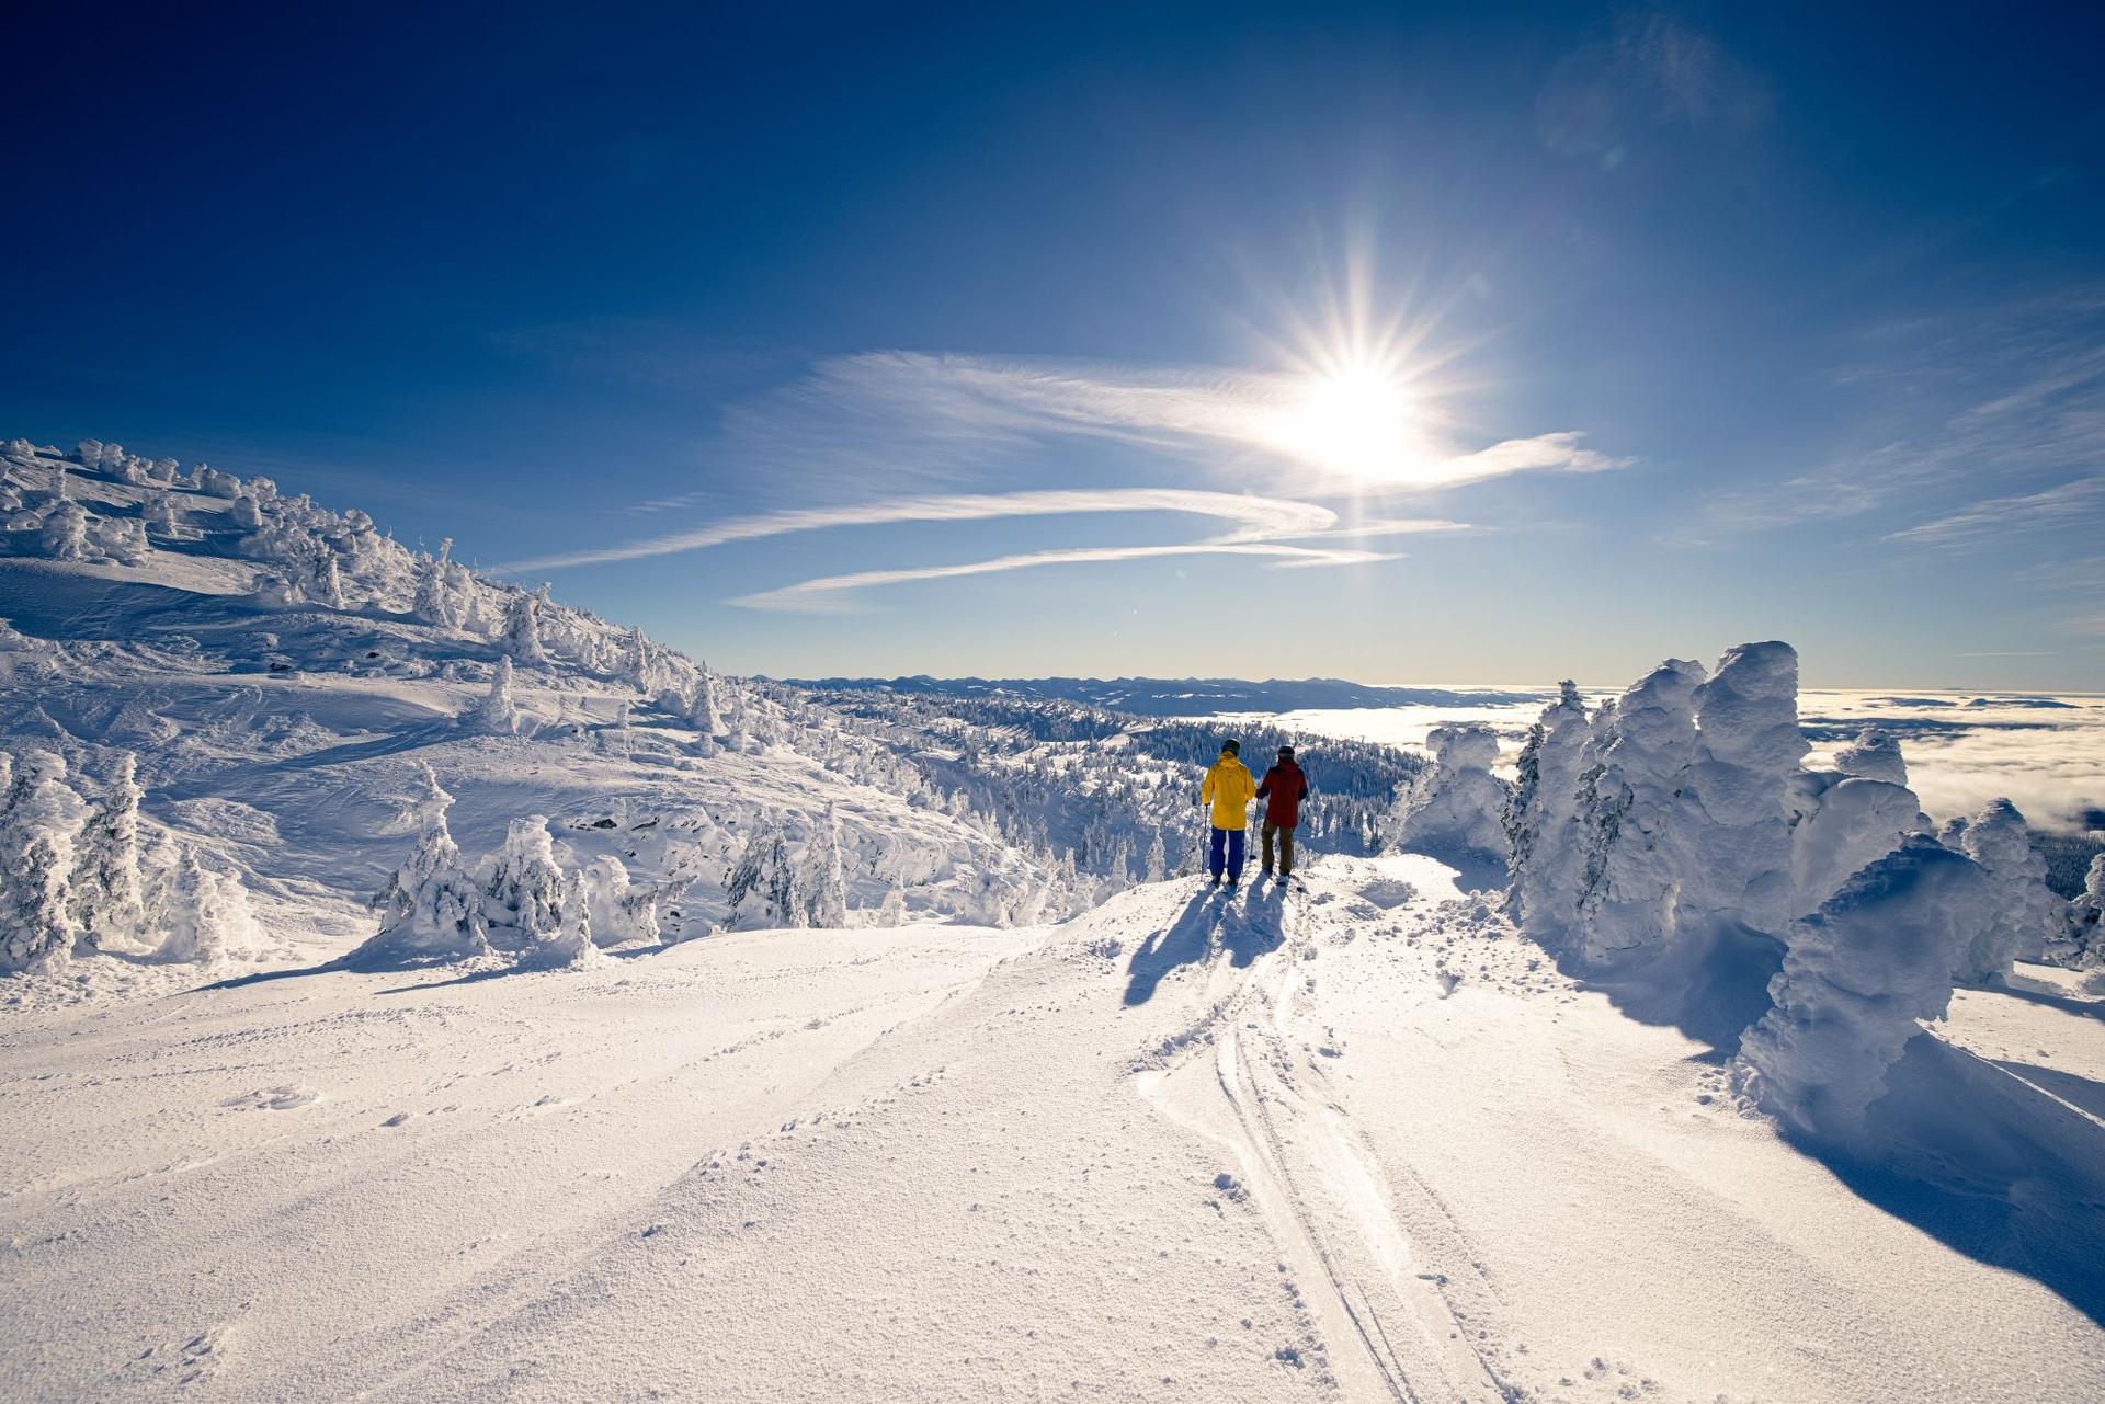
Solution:
{"label": "smooth sunlit foreground snow slope with ski tracks and skiers' shadows", "polygon": [[[1859,1200],[1448,869],[1305,878],[23,1012],[0,1393],[2105,1391],[2088,1318]],[[2008,994],[1943,1038],[2105,1065]]]}

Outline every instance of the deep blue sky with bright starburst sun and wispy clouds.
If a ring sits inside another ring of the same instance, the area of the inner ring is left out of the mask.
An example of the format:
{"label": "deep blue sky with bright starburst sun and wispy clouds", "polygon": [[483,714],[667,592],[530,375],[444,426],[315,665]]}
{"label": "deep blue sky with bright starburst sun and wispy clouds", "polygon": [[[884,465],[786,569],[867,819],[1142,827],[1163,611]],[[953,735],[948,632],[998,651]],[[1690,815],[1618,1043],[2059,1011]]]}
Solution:
{"label": "deep blue sky with bright starburst sun and wispy clouds", "polygon": [[739,671],[2105,688],[2097,6],[314,8],[13,21],[0,432]]}

